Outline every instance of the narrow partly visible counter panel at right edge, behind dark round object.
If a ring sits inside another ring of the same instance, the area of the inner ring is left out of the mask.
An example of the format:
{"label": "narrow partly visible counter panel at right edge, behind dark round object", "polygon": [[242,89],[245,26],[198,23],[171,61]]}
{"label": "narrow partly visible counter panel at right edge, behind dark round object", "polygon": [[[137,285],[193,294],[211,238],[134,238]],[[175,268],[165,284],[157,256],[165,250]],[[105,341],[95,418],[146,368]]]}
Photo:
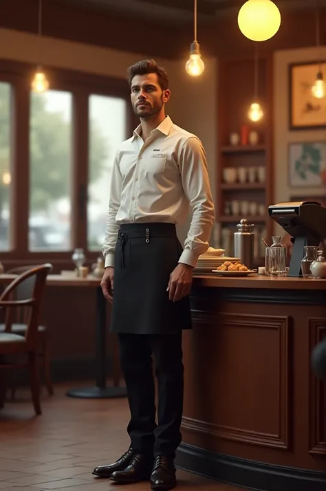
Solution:
{"label": "narrow partly visible counter panel at right edge, behind dark round object", "polygon": [[[326,318],[308,319],[309,325],[309,351],[310,353],[326,336]],[[326,454],[325,435],[325,384],[310,372],[310,406],[309,406],[309,453],[316,455]]]}

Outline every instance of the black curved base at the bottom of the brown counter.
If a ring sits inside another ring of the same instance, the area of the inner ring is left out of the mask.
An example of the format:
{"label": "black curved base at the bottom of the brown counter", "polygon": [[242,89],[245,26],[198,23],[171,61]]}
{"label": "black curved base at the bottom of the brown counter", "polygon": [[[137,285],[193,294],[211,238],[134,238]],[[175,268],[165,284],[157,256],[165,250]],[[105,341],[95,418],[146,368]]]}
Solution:
{"label": "black curved base at the bottom of the brown counter", "polygon": [[175,465],[210,479],[258,491],[325,491],[326,472],[274,466],[180,444]]}

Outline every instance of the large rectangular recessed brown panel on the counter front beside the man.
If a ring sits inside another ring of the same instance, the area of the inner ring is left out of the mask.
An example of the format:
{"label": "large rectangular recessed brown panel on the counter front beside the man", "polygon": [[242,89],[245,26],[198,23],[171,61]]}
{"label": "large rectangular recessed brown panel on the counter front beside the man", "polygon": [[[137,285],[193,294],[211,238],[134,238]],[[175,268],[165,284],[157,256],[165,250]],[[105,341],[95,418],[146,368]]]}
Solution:
{"label": "large rectangular recessed brown panel on the counter front beside the man", "polygon": [[[221,312],[218,320],[195,318],[195,326],[207,334],[198,336],[195,349],[197,361],[205,364],[202,382],[216,397],[208,407],[193,408],[197,417],[186,412],[182,427],[246,444],[288,448],[290,319]],[[231,345],[232,350],[221,348]],[[266,380],[269,390],[262,399],[257,395],[265,390]],[[193,380],[188,383],[193,386]],[[186,408],[190,405],[186,400]]]}

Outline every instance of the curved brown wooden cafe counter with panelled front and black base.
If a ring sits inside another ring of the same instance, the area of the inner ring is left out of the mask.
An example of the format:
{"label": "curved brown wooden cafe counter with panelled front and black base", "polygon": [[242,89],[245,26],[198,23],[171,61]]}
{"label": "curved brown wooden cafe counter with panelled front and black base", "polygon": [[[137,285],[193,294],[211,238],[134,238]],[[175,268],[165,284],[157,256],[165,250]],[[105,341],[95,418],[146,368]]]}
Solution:
{"label": "curved brown wooden cafe counter with panelled front and black base", "polygon": [[310,369],[326,281],[196,276],[177,466],[266,491],[325,491],[326,400]]}

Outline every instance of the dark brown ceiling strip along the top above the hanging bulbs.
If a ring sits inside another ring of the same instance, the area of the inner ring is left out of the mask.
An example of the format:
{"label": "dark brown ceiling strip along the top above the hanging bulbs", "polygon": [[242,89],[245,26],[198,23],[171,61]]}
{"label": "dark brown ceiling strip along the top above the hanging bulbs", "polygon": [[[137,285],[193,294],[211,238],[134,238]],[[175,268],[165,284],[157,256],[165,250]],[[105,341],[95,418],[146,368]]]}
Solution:
{"label": "dark brown ceiling strip along the top above the hanging bulbs", "polygon": [[[193,0],[64,0],[92,10],[111,10],[137,19],[153,19],[160,23],[193,21]],[[210,23],[239,10],[245,0],[197,0],[198,21]],[[274,0],[282,9],[313,8],[314,0]],[[326,0],[318,0],[326,5]]]}

